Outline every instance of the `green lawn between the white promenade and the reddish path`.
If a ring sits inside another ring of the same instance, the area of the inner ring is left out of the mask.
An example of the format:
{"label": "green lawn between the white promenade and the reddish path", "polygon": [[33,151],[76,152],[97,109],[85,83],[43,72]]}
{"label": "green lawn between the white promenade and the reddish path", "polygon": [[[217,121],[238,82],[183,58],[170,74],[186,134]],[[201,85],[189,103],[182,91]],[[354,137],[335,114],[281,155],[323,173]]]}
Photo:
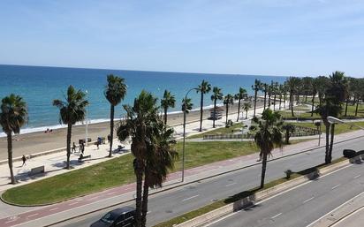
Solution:
{"label": "green lawn between the white promenade and the reddish path", "polygon": [[[182,144],[178,143],[177,148],[181,154]],[[186,168],[193,168],[254,152],[257,152],[257,148],[252,142],[186,142],[185,164]],[[80,170],[11,188],[3,194],[3,198],[19,205],[54,203],[132,183],[135,181],[132,161],[133,155],[124,155]],[[180,166],[181,162],[178,161],[175,170],[179,170]]]}

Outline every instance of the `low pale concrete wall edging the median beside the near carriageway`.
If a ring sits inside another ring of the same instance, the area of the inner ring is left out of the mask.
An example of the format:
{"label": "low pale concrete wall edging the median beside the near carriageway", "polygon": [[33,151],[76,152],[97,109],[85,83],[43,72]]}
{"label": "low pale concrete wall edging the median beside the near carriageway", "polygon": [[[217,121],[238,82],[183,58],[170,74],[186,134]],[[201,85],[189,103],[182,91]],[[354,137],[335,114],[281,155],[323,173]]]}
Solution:
{"label": "low pale concrete wall edging the median beside the near carriageway", "polygon": [[212,210],[209,213],[206,213],[204,215],[194,217],[193,219],[188,220],[184,223],[179,223],[176,225],[176,227],[203,226],[204,224],[207,224],[222,216],[232,214],[242,208],[248,208],[248,207],[254,206],[254,203],[257,201],[262,201],[277,193],[284,193],[285,191],[292,189],[295,186],[302,185],[303,183],[306,183],[317,177],[325,176],[326,174],[330,173],[331,171],[339,170],[339,169],[345,167],[346,165],[349,165],[350,163],[351,163],[350,160],[345,160],[340,163],[332,164],[330,166],[322,168],[321,170],[316,170],[314,172],[308,173],[307,175],[301,176],[299,178],[294,178],[294,179],[287,181],[285,183],[282,183],[280,185],[276,185],[276,186],[273,186],[266,190],[263,190],[261,192],[254,193],[250,196],[240,199],[239,201],[232,202],[231,204],[228,204],[228,205],[225,205],[224,207]]}

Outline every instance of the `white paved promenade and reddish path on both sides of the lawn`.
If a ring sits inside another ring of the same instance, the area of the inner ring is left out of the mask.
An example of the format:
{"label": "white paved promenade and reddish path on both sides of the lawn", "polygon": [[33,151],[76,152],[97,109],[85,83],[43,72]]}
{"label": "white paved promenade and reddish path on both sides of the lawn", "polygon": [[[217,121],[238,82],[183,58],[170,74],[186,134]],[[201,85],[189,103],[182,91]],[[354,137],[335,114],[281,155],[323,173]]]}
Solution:
{"label": "white paved promenade and reddish path on both sides of the lawn", "polygon": [[[261,113],[262,109],[257,110],[257,113]],[[249,111],[249,115],[252,111]],[[231,119],[236,119],[236,114],[231,114],[229,116]],[[224,125],[224,117],[216,122],[216,125]],[[192,122],[186,125],[186,134],[192,135],[198,133],[199,122]],[[182,125],[174,126],[176,130],[177,137],[181,137],[183,132]],[[212,121],[203,121],[204,132],[212,129]],[[348,132],[344,134],[337,135],[335,138],[336,142],[350,140],[355,137],[364,136],[364,132],[355,131]],[[323,145],[322,137],[322,145]],[[118,140],[114,140],[115,148],[118,148],[120,144]],[[129,154],[130,144],[126,141],[124,142],[125,149],[122,152],[115,153],[113,157],[118,157],[120,155]],[[85,150],[85,155],[91,155],[91,159],[85,160],[83,163],[78,163],[77,159],[79,157],[78,153],[72,154],[72,167],[73,170],[78,170],[80,168],[87,167],[89,165],[104,162],[110,160],[106,158],[108,155],[108,144],[102,144],[99,149],[95,145],[90,145]],[[281,158],[287,155],[295,155],[305,150],[317,148],[317,140],[311,140],[306,142],[301,142],[300,144],[294,144],[290,146],[285,146],[283,149],[275,149],[273,151],[273,159]],[[258,154],[246,155],[238,158],[233,158],[230,160],[211,163],[201,167],[196,167],[190,170],[186,170],[185,176],[186,180],[184,183],[180,182],[181,172],[171,173],[168,176],[167,181],[163,184],[163,188],[152,190],[151,193],[159,193],[164,190],[170,190],[172,188],[190,184],[201,180],[203,178],[210,178],[219,174],[223,174],[226,171],[237,170],[250,165],[259,164],[256,162]],[[27,165],[21,167],[21,162],[14,163],[14,172],[19,179],[19,185],[24,185],[30,182],[42,178],[49,178],[57,174],[61,174],[70,170],[64,170],[64,160],[65,152],[55,153],[50,155],[41,155],[34,157],[27,161]],[[34,177],[29,177],[27,172],[31,168],[44,165],[46,173],[43,175],[37,175]],[[176,167],[178,168],[178,167]],[[71,170],[72,171],[72,170]],[[9,185],[9,170],[7,165],[0,165],[0,192],[10,188]],[[13,226],[15,224],[27,223],[23,226],[42,226],[45,223],[54,223],[56,221],[62,221],[64,219],[70,218],[72,216],[80,216],[98,210],[100,208],[107,208],[125,201],[132,201],[134,196],[135,185],[122,185],[109,190],[102,191],[100,193],[93,193],[80,198],[75,198],[69,201],[60,202],[54,205],[42,206],[42,207],[30,207],[22,208],[11,206],[8,204],[0,203],[0,226]],[[41,219],[42,218],[42,223]],[[21,225],[20,225],[21,226]]]}

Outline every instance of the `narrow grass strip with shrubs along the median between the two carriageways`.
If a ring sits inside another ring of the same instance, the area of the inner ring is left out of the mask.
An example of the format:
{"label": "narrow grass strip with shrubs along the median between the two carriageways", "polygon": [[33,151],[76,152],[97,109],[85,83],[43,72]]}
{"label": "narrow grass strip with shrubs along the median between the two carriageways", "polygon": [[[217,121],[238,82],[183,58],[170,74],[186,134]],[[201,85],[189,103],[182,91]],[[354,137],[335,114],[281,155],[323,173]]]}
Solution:
{"label": "narrow grass strip with shrubs along the median between the two carriageways", "polygon": [[226,199],[220,200],[220,201],[212,202],[207,206],[204,206],[202,208],[194,209],[193,211],[190,211],[190,212],[188,212],[188,213],[186,213],[184,215],[174,217],[169,221],[166,221],[166,222],[163,222],[163,223],[158,223],[154,227],[171,227],[171,226],[176,225],[178,223],[184,223],[184,222],[186,222],[188,220],[193,219],[194,217],[207,214],[210,211],[215,210],[216,208],[222,208],[225,205],[228,205],[228,204],[230,204],[232,202],[235,202],[235,201],[239,201],[239,200],[241,200],[243,198],[246,198],[247,196],[253,195],[254,193],[258,193],[258,192],[260,192],[262,190],[266,190],[266,189],[269,189],[269,188],[271,188],[273,186],[280,185],[280,184],[282,184],[284,182],[287,182],[287,181],[290,181],[290,180],[292,180],[294,178],[299,178],[301,176],[304,176],[304,175],[307,175],[309,173],[318,171],[318,170],[320,170],[320,169],[322,169],[324,167],[328,167],[328,166],[330,166],[332,164],[339,163],[339,162],[342,162],[344,160],[346,160],[345,157],[340,157],[340,158],[337,158],[337,159],[333,160],[332,163],[330,163],[330,164],[322,163],[320,165],[308,168],[306,170],[301,170],[299,172],[292,172],[291,178],[289,178],[289,179],[287,179],[287,178],[278,178],[276,180],[270,181],[269,183],[266,183],[264,185],[264,188],[254,187],[253,189],[250,189],[250,190],[247,190],[247,191],[244,191],[244,192],[241,192],[241,193],[234,194],[234,195],[230,196],[229,198],[226,198]]}

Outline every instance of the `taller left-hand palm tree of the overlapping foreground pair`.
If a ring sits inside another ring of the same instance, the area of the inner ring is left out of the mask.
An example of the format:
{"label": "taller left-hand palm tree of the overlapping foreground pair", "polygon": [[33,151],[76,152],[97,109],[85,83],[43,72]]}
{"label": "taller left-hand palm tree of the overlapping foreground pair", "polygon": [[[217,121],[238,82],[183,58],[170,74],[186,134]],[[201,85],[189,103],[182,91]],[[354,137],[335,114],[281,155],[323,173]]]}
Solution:
{"label": "taller left-hand palm tree of the overlapping foreground pair", "polygon": [[133,107],[124,105],[126,117],[117,130],[118,140],[124,141],[129,137],[132,138],[131,150],[134,156],[133,168],[136,177],[136,226],[142,226],[142,183],[152,146],[150,141],[153,140],[154,127],[159,118],[156,102],[157,99],[153,95],[142,90],[140,95],[134,99]]}

